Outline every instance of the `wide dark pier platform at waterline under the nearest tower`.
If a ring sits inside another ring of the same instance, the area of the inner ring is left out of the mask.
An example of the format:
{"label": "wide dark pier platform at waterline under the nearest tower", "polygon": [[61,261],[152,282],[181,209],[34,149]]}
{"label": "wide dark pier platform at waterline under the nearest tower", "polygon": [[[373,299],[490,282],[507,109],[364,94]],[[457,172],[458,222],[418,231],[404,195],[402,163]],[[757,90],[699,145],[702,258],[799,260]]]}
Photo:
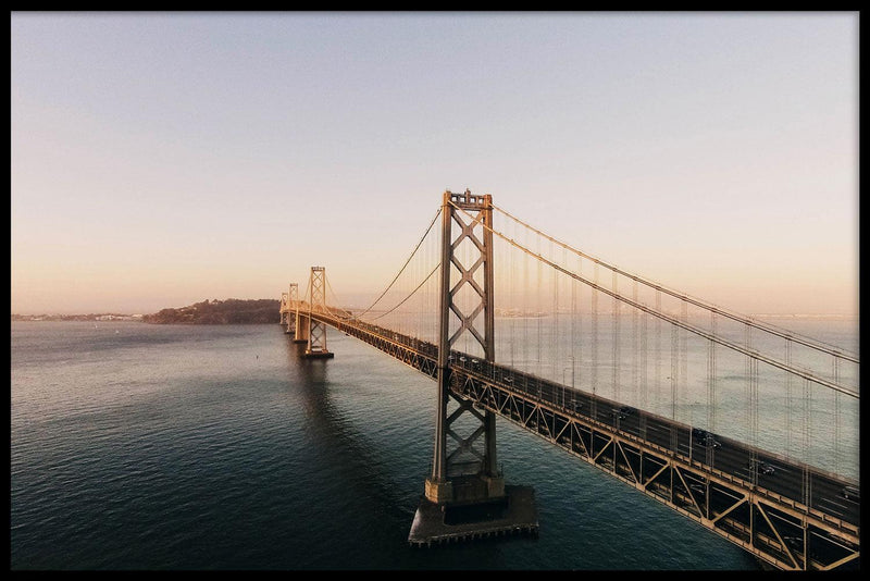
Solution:
{"label": "wide dark pier platform at waterline under the nearest tower", "polygon": [[504,497],[477,503],[438,505],[421,497],[408,543],[430,547],[494,536],[537,536],[537,532],[534,489],[508,485]]}

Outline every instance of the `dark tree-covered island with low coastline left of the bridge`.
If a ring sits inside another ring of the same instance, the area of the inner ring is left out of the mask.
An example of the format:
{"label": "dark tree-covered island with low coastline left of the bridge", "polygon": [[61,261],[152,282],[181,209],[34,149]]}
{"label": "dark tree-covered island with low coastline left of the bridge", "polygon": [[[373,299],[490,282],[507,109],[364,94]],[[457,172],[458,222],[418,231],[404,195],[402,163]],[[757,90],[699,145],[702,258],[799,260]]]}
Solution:
{"label": "dark tree-covered island with low coastline left of the bridge", "polygon": [[203,300],[151,314],[13,314],[13,321],[140,321],[153,324],[261,324],[281,322],[281,301],[272,298]]}

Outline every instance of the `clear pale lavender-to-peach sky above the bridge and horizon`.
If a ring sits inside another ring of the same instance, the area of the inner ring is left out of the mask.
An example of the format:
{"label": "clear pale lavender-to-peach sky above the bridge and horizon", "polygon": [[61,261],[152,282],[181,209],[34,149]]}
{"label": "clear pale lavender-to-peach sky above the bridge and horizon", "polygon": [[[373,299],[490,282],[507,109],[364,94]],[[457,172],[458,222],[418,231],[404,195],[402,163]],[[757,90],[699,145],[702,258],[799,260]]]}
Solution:
{"label": "clear pale lavender-to-peach sky above the bridge and horizon", "polygon": [[[738,312],[858,312],[858,14],[11,14],[12,312],[375,296],[445,189]],[[301,286],[301,285],[300,285]]]}

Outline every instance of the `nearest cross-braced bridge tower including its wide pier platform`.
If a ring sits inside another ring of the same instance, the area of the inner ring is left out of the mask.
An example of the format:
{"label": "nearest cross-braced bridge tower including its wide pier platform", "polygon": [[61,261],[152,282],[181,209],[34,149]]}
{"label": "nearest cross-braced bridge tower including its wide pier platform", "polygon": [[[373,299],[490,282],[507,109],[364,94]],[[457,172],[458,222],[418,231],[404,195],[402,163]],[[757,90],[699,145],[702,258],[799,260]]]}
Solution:
{"label": "nearest cross-braced bridge tower including its wide pier platform", "polygon": [[[465,221],[468,215],[471,215],[470,222]],[[460,228],[456,239],[452,237],[453,223]],[[480,536],[482,531],[487,534],[537,531],[534,491],[527,486],[506,486],[498,470],[495,413],[477,411],[458,393],[461,388],[456,388],[461,386],[450,367],[450,347],[464,333],[470,333],[476,342],[476,351],[467,355],[495,361],[492,227],[492,196],[472,196],[469,190],[464,194],[445,191],[435,449],[432,474],[425,481],[425,495],[408,537],[409,543],[415,545],[471,539]],[[463,244],[478,250],[476,260],[472,258],[470,265],[462,264],[460,256],[453,252]],[[481,268],[483,286],[474,277]],[[451,281],[453,271],[459,274],[456,281]],[[465,289],[463,296],[471,296],[474,304],[453,301],[465,284],[471,292]],[[481,313],[484,320],[482,330],[475,326],[475,319]],[[452,335],[451,321],[456,329]],[[457,406],[452,411],[448,409],[451,404]],[[469,435],[462,435],[463,428],[470,431]],[[448,449],[448,436],[457,444],[452,449]]]}

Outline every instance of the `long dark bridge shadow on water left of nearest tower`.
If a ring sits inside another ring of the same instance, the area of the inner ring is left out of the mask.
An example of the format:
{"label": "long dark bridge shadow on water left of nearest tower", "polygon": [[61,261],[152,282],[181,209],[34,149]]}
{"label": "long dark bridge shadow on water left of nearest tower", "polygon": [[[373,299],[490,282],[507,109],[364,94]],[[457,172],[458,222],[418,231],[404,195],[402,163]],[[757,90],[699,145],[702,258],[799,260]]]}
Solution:
{"label": "long dark bridge shadow on water left of nearest tower", "polygon": [[[409,545],[408,533],[420,496],[409,502],[407,481],[403,484],[393,481],[396,468],[386,465],[380,446],[373,444],[364,431],[355,428],[353,419],[336,405],[333,390],[338,384],[331,380],[330,369],[336,364],[336,359],[306,358],[304,348],[304,344],[287,339],[289,367],[298,373],[298,379],[291,376],[291,383],[304,405],[308,445],[321,465],[312,469],[332,480],[323,482],[319,494],[328,495],[324,502],[336,507],[333,524],[336,534],[332,539],[335,549],[340,554],[340,544],[352,542],[348,551],[355,555],[348,555],[347,559],[335,558],[326,568],[504,568],[499,547],[505,543],[529,542],[527,539],[484,539],[432,549]],[[341,385],[346,386],[346,381]],[[378,410],[371,412],[376,415]],[[428,444],[427,440],[424,446],[427,453],[431,452]],[[425,467],[420,473],[410,475],[419,480],[421,496],[428,460],[424,460]],[[450,554],[447,559],[445,552]]]}

